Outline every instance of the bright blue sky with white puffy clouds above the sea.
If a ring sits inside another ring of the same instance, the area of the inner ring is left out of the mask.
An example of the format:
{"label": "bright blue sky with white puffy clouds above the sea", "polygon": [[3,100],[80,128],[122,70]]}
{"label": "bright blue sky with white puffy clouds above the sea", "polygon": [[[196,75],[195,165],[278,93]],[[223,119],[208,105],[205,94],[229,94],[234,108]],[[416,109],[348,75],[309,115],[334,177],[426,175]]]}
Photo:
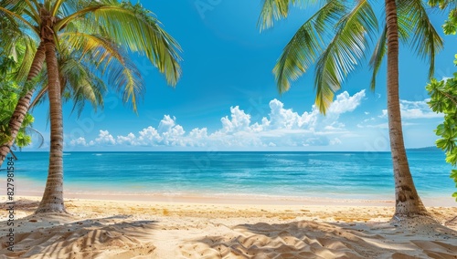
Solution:
{"label": "bright blue sky with white puffy clouds above the sea", "polygon": [[[175,88],[143,57],[134,57],[146,82],[135,114],[114,91],[105,108],[80,118],[64,107],[65,150],[388,150],[386,69],[369,89],[367,60],[346,80],[326,117],[314,108],[314,71],[280,95],[272,67],[311,10],[260,34],[260,0],[141,1],[180,43],[183,76]],[[441,33],[444,16],[432,21]],[[436,78],[455,70],[455,36],[443,36]],[[427,62],[400,48],[400,99],[407,148],[434,145],[441,115],[428,109]],[[47,104],[34,127],[48,142]],[[40,150],[47,150],[45,144]],[[36,146],[27,150],[37,150]]]}

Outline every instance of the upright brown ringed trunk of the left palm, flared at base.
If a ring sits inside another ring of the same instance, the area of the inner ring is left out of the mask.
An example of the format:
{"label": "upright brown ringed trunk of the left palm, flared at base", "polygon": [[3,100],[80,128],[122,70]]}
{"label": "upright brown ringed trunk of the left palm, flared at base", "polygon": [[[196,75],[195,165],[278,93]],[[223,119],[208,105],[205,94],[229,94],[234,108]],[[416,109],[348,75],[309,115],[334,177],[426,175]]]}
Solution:
{"label": "upright brown ringed trunk of the left palm, flared at base", "polygon": [[67,213],[63,201],[63,119],[60,83],[58,79],[58,60],[53,35],[44,38],[46,64],[48,67],[48,97],[50,119],[50,150],[48,180],[43,198],[36,213]]}

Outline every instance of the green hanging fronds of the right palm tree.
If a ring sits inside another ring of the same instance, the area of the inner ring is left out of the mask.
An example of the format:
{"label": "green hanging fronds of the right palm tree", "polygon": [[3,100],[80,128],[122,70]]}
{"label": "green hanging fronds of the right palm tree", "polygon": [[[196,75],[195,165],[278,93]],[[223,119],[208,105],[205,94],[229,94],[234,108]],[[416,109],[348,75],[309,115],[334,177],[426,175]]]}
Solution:
{"label": "green hanging fronds of the right palm tree", "polygon": [[[371,88],[386,54],[386,26],[379,26],[372,3],[358,1],[263,0],[260,29],[273,26],[285,18],[289,8],[297,5],[318,5],[317,12],[303,23],[278,58],[273,74],[280,93],[287,91],[292,81],[316,64],[315,103],[325,113],[341,88],[345,78],[356,69],[373,44],[369,65],[373,69]],[[398,1],[399,37],[419,57],[430,62],[429,77],[434,73],[435,55],[443,42],[427,15],[426,3],[420,0]],[[379,27],[382,30],[379,31]]]}

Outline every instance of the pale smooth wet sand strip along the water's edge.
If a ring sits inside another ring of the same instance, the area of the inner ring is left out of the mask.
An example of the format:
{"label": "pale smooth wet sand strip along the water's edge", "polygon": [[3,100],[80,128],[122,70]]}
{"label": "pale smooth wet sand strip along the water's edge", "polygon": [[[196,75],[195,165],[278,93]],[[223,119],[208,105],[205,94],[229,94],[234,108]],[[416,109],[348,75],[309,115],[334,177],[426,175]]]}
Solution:
{"label": "pale smooth wet sand strip along the water's edge", "polygon": [[[1,181],[0,181],[1,182]],[[16,181],[16,196],[30,196],[41,198],[44,191],[44,182],[19,179]],[[5,185],[5,184],[4,184]],[[4,187],[0,187],[0,193],[6,193]],[[314,195],[292,194],[289,196],[260,193],[237,193],[237,192],[131,192],[126,190],[110,189],[95,190],[87,186],[64,185],[65,199],[86,199],[103,201],[131,201],[131,202],[188,202],[188,203],[215,203],[215,204],[265,204],[265,205],[323,205],[334,206],[346,204],[350,206],[394,206],[394,195],[382,193],[354,194],[352,197],[347,193],[328,192],[313,193]],[[427,193],[420,198],[427,207],[455,207],[457,202],[442,193]],[[358,196],[357,198],[354,198]]]}

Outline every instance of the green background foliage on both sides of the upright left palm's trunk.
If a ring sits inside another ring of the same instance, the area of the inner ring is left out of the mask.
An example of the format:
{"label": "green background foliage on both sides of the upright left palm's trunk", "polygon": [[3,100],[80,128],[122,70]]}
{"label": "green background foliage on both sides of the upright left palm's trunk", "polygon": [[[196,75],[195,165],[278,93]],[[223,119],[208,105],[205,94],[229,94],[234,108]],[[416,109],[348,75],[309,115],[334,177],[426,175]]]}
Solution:
{"label": "green background foliage on both sides of the upright left palm's trunk", "polygon": [[[9,152],[16,160],[13,150],[16,150],[16,148],[22,149],[30,145],[32,136],[37,136],[38,148],[44,143],[43,135],[37,129],[30,127],[34,118],[29,113],[25,115],[22,123],[19,125],[20,129],[15,132],[14,138],[11,136],[10,130],[11,122],[16,122],[11,118],[13,111],[16,109],[17,96],[21,93],[16,80],[23,81],[25,79],[21,77],[22,70],[27,69],[24,67],[30,69],[31,64],[29,64],[30,60],[27,60],[27,53],[33,50],[34,45],[32,39],[27,36],[22,37],[20,31],[17,30],[17,25],[9,23],[5,18],[0,20],[0,22],[4,29],[2,30],[3,36],[0,36],[0,38],[7,38],[7,40],[2,42],[4,44],[0,50],[0,75],[5,79],[0,82],[0,144],[10,143],[9,145],[5,145],[8,148],[5,155]],[[90,71],[90,66],[86,62],[81,62],[81,59],[77,60],[76,57],[79,56],[71,52],[68,46],[63,49],[65,50],[64,55],[60,53],[61,55],[59,56],[59,73],[61,78],[63,78],[62,82],[68,82],[67,86],[62,86],[66,90],[62,95],[64,100],[73,100],[74,109],[78,109],[79,115],[86,101],[89,101],[94,109],[102,106],[102,95],[106,90],[103,80]],[[93,63],[92,59],[85,59]],[[46,76],[38,78],[33,83],[34,85],[45,85],[45,87],[34,98],[30,104],[30,109],[45,99],[43,97],[48,90]],[[13,150],[9,149],[10,146],[12,146]]]}

